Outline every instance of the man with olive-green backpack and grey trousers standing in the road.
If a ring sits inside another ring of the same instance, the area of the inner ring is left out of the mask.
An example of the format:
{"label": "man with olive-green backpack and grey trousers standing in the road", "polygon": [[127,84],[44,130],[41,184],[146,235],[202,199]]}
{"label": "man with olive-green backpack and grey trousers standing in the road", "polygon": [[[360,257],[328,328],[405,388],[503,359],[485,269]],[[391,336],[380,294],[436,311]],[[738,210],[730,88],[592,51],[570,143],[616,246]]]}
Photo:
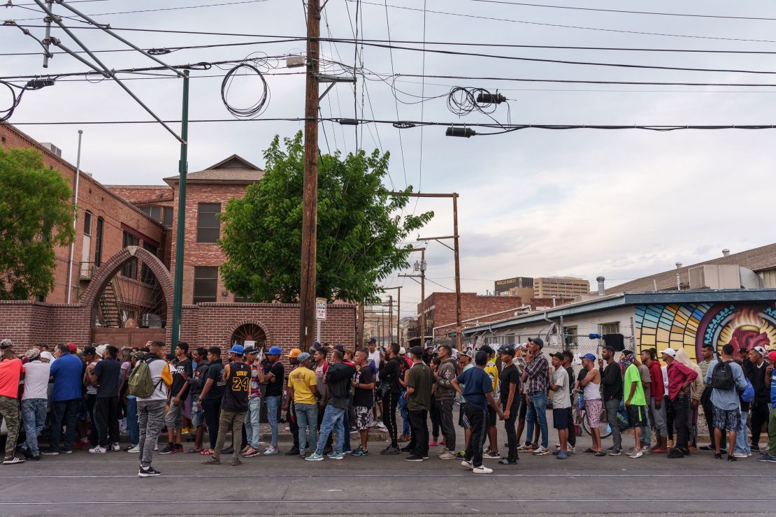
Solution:
{"label": "man with olive-green backpack and grey trousers standing in the road", "polygon": [[140,426],[140,468],[138,477],[159,476],[161,472],[151,467],[154,447],[165,424],[167,392],[172,384],[172,374],[165,357],[165,343],[153,341],[149,352],[137,362],[130,377],[130,393],[137,397],[137,421]]}

